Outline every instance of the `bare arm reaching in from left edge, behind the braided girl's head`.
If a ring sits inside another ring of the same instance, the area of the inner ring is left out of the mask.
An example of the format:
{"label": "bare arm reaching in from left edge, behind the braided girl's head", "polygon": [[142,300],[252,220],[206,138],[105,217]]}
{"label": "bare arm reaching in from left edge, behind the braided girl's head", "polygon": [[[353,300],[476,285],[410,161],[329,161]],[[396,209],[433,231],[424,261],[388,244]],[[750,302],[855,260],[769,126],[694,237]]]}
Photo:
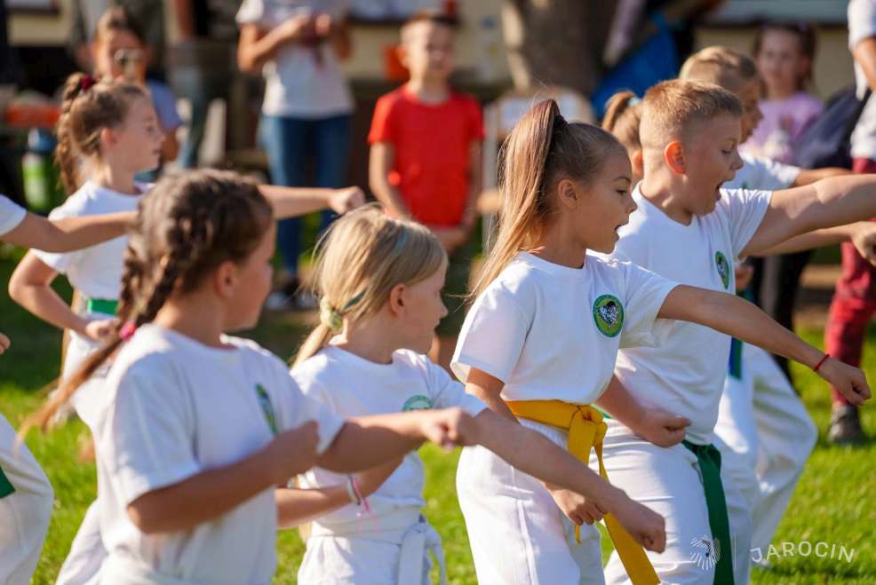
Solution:
{"label": "bare arm reaching in from left edge, behind the braided girl's head", "polygon": [[46,252],[69,252],[124,235],[135,216],[131,211],[50,221],[28,213],[24,221],[3,236],[3,240]]}

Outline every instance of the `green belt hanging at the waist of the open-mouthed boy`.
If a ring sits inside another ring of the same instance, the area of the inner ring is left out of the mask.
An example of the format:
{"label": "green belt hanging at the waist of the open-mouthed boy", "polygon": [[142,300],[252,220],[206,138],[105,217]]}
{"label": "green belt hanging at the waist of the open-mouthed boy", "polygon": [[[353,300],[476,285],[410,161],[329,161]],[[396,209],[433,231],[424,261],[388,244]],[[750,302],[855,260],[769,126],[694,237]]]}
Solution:
{"label": "green belt hanging at the waist of the open-mouthed boy", "polygon": [[721,452],[713,445],[694,445],[683,440],[681,444],[697,455],[700,473],[703,475],[705,505],[709,510],[709,527],[715,545],[714,585],[733,584],[733,554],[730,544],[730,521],[727,517],[727,500],[721,484]]}

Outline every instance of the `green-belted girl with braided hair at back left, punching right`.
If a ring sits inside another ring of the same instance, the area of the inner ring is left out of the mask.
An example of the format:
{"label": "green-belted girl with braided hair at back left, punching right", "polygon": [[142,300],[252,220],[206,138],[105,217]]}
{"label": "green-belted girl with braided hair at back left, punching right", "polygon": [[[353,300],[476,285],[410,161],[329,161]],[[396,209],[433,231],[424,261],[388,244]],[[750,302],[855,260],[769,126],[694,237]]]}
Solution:
{"label": "green-belted girl with braided hair at back left, punching right", "polygon": [[[57,133],[56,155],[70,196],[52,211],[52,219],[137,209],[139,199],[151,185],[139,183],[134,177],[155,169],[163,140],[152,101],[143,86],[71,75],[64,89]],[[343,213],[363,199],[357,188],[261,188],[274,204],[277,217],[326,207]],[[37,317],[69,332],[62,377],[76,371],[115,327],[126,245],[127,238],[118,237],[72,253],[31,251],[12,274],[12,298]],[[58,273],[64,273],[76,289],[78,302],[73,307],[52,289]],[[91,428],[107,369],[93,372],[72,400],[76,414]],[[92,508],[86,515],[61,567],[60,585],[86,583],[100,566],[103,546],[95,513]]]}

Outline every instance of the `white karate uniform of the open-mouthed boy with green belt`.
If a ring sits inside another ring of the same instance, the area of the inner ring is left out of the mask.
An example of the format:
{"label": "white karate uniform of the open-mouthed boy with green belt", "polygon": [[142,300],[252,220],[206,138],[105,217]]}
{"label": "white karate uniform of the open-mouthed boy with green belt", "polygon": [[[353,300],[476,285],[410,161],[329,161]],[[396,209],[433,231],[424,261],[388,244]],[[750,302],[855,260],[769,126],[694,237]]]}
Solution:
{"label": "white karate uniform of the open-mouthed boy with green belt", "polygon": [[[612,257],[630,260],[684,284],[735,294],[734,261],[761,225],[770,194],[722,189],[712,213],[692,217],[689,225],[682,225],[651,204],[637,186],[633,199],[639,209],[619,230],[620,241]],[[679,321],[665,344],[621,350],[616,374],[642,404],[689,418],[692,424],[687,439],[691,443],[717,444],[713,430],[729,347],[729,336]],[[620,423],[609,426],[606,468],[612,483],[666,518],[667,550],[660,555],[649,552],[657,575],[665,582],[705,582],[704,571],[713,569],[697,563],[697,542],[711,540],[713,535],[696,457],[683,446],[649,447]],[[689,472],[681,473],[685,469]],[[733,569],[737,585],[742,585],[748,580],[751,515],[726,469],[721,470],[721,478]],[[606,579],[611,583],[625,581],[616,553],[606,566]]]}

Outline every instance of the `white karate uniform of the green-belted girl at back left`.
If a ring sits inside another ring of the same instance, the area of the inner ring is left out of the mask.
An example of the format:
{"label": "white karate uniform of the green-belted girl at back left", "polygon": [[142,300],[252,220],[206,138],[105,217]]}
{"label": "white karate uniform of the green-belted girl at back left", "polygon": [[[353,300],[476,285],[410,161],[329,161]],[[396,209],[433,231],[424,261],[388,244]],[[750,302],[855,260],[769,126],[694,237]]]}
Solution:
{"label": "white karate uniform of the green-belted girl at back left", "polygon": [[[151,185],[137,183],[140,193],[146,193]],[[97,216],[107,213],[134,211],[137,209],[140,195],[122,194],[99,186],[92,181],[86,181],[83,186],[70,195],[63,205],[52,209],[50,219],[65,217]],[[45,265],[57,273],[67,276],[71,286],[84,296],[101,300],[117,300],[122,286],[124,249],[128,245],[128,237],[120,236],[89,248],[73,252],[53,253],[34,250],[34,254]],[[114,315],[99,312],[82,313],[89,319],[109,319]],[[69,332],[69,343],[64,352],[64,364],[61,368],[61,378],[72,376],[84,360],[100,348],[100,344],[74,331]],[[101,384],[107,376],[109,365],[99,368],[85,382],[70,400],[79,418],[93,429],[100,399]],[[92,508],[95,504],[92,503]],[[100,526],[96,510],[89,509],[83,523],[79,526],[70,552],[61,565],[56,585],[94,585],[99,581],[100,565],[106,557],[100,537]]]}

